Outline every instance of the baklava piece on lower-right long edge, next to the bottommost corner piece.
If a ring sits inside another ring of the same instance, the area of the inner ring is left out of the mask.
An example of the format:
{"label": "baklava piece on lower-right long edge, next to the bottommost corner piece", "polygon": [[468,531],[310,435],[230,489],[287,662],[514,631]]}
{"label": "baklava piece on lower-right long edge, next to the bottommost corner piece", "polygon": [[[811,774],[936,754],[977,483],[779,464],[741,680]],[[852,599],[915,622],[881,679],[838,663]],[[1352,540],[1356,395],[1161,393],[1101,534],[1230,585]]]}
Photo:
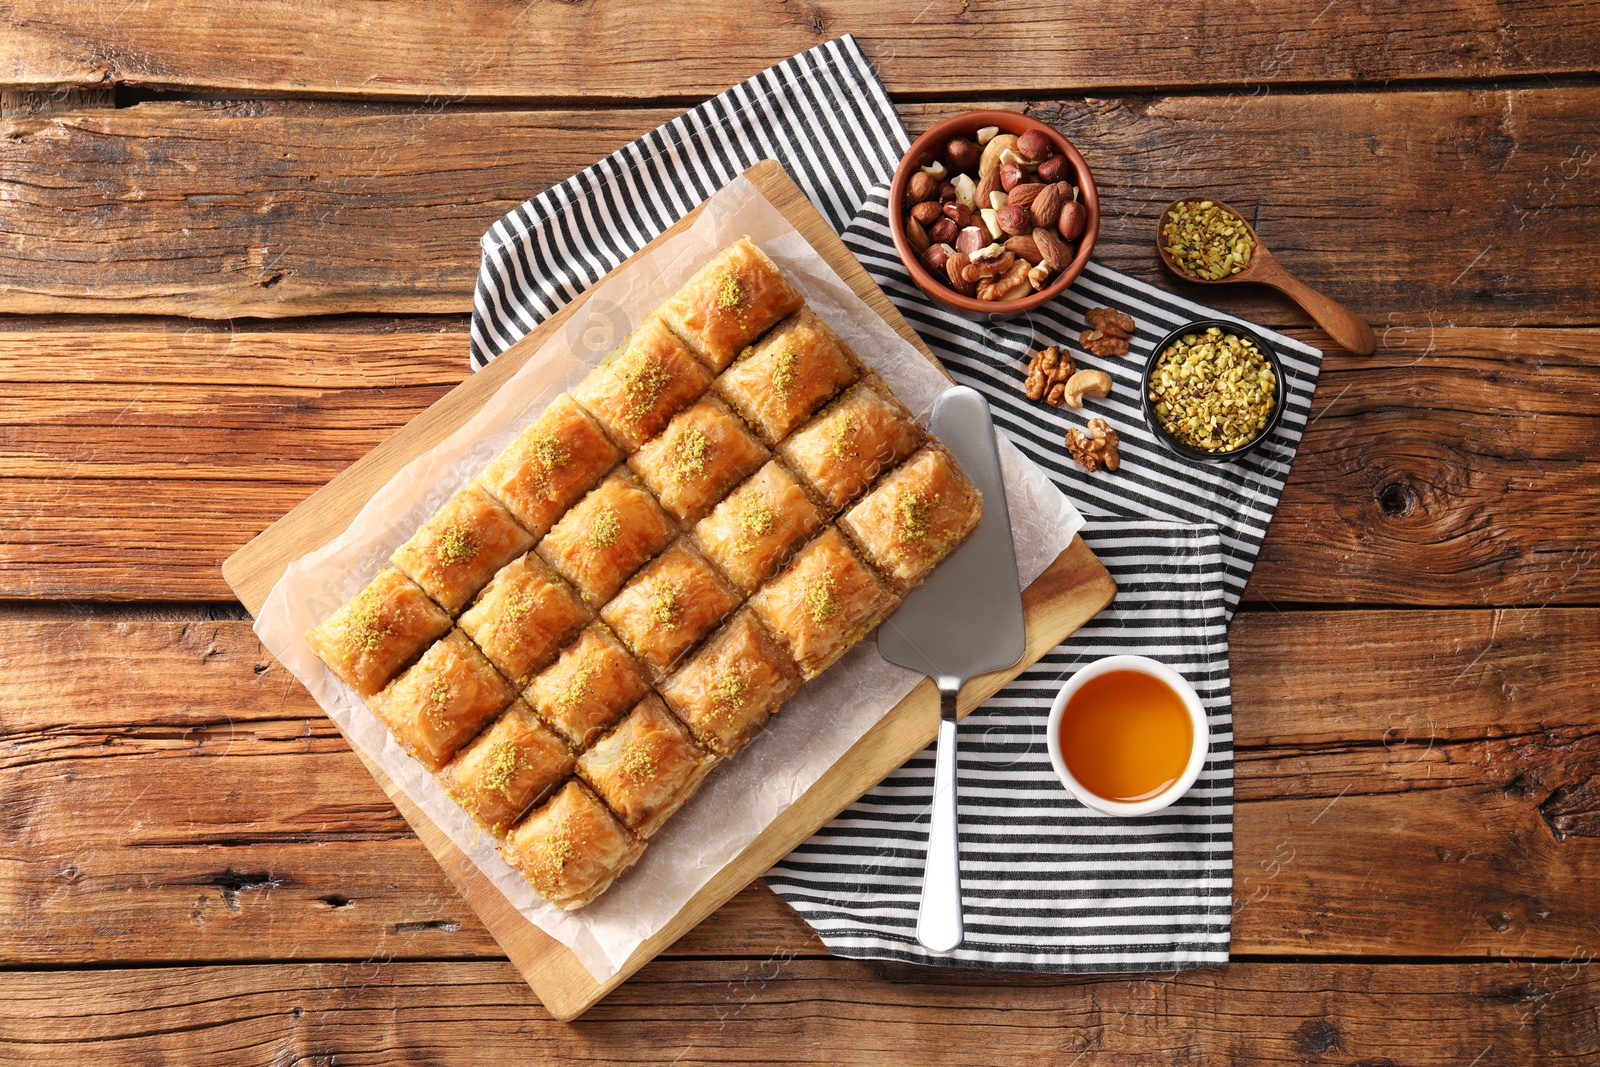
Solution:
{"label": "baklava piece on lower-right long edge, next to the bottommost corner piece", "polygon": [[578,774],[630,830],[650,837],[694,795],[715,761],[659,696],[646,696],[578,757]]}

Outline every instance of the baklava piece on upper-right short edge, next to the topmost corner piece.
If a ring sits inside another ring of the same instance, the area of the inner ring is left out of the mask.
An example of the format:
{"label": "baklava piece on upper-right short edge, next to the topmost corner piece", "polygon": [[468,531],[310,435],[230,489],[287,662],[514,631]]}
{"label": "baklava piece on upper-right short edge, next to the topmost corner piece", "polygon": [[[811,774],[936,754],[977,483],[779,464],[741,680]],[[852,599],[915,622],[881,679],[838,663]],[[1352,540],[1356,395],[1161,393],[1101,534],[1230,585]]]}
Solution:
{"label": "baklava piece on upper-right short edge, next to the topmost corner piece", "polygon": [[861,376],[854,354],[810,307],[739,357],[712,389],[776,445]]}

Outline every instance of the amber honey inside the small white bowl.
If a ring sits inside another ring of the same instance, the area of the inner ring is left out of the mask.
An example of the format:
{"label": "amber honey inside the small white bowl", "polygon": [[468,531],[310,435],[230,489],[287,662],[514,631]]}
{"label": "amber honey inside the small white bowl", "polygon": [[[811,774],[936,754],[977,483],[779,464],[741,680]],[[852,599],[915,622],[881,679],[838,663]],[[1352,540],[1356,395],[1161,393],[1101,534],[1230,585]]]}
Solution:
{"label": "amber honey inside the small white bowl", "polygon": [[1061,715],[1061,757],[1086,790],[1136,803],[1184,774],[1195,731],[1184,697],[1142,670],[1090,678]]}

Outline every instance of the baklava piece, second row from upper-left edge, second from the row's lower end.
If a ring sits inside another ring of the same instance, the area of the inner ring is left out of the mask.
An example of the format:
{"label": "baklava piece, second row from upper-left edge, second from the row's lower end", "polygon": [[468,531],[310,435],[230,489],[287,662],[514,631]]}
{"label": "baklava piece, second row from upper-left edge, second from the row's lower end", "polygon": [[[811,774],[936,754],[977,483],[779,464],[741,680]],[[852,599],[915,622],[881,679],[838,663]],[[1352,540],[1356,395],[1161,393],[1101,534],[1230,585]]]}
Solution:
{"label": "baklava piece, second row from upper-left edge, second from the row's lower end", "polygon": [[502,675],[525,686],[589,619],[573,587],[530,552],[499,569],[458,625]]}

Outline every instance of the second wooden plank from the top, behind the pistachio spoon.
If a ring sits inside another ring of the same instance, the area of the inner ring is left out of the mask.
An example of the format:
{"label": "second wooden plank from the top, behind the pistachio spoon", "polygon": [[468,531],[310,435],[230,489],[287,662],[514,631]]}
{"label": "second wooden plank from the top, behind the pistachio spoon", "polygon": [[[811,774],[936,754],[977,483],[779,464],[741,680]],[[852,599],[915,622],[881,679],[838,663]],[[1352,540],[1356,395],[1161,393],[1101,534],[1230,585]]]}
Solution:
{"label": "second wooden plank from the top, behind the pistachio spoon", "polygon": [[[901,110],[915,130],[965,107]],[[1154,229],[1173,197],[1211,192],[1378,326],[1600,318],[1582,269],[1600,242],[1600,88],[1032,110],[1083,147],[1106,206],[1098,258],[1117,269],[1198,296],[1162,272]],[[496,218],[675,114],[357,112],[141,104],[5,125],[0,310],[466,312],[477,242]],[[1203,299],[1267,325],[1309,323],[1258,286]]]}

